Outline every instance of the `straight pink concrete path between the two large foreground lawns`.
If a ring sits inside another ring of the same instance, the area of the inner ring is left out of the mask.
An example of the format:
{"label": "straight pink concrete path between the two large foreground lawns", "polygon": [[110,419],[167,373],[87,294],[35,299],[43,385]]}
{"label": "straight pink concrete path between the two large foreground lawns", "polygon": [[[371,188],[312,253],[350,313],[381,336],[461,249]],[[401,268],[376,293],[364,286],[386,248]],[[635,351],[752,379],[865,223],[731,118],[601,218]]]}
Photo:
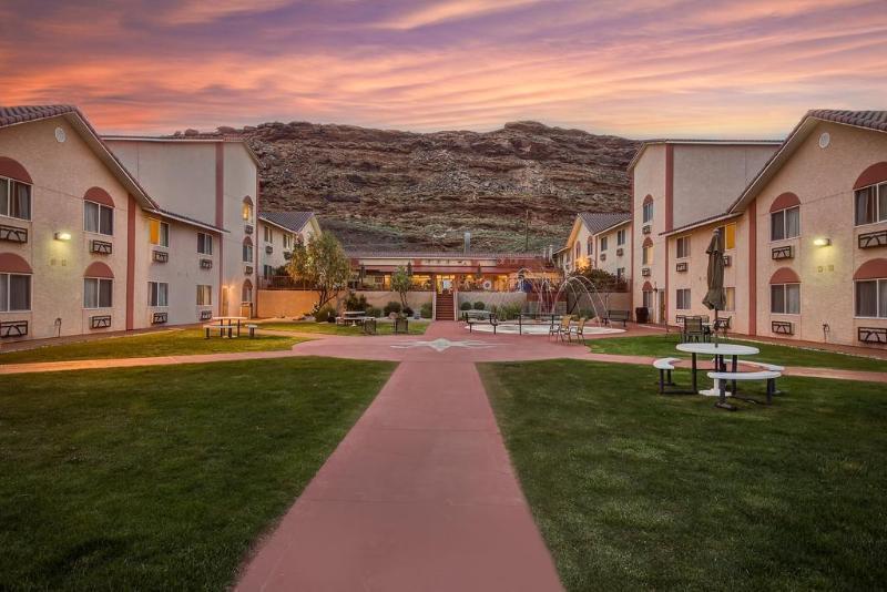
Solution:
{"label": "straight pink concrete path between the two large foreground lawns", "polygon": [[473,364],[400,364],[238,590],[561,590]]}

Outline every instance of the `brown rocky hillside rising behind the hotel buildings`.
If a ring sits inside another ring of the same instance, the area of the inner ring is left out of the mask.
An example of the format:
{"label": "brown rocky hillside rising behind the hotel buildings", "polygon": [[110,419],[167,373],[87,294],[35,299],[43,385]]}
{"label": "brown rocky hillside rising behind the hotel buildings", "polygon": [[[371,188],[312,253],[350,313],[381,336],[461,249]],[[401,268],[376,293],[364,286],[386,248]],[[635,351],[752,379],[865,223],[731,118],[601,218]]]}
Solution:
{"label": "brown rocky hillside rising behind the hotel buildings", "polygon": [[[193,132],[192,132],[193,133]],[[507,123],[486,133],[409,133],[264,123],[242,134],[262,160],[268,210],[312,210],[348,246],[522,251],[560,245],[580,210],[628,208],[638,142]],[[529,214],[528,214],[529,212]]]}

